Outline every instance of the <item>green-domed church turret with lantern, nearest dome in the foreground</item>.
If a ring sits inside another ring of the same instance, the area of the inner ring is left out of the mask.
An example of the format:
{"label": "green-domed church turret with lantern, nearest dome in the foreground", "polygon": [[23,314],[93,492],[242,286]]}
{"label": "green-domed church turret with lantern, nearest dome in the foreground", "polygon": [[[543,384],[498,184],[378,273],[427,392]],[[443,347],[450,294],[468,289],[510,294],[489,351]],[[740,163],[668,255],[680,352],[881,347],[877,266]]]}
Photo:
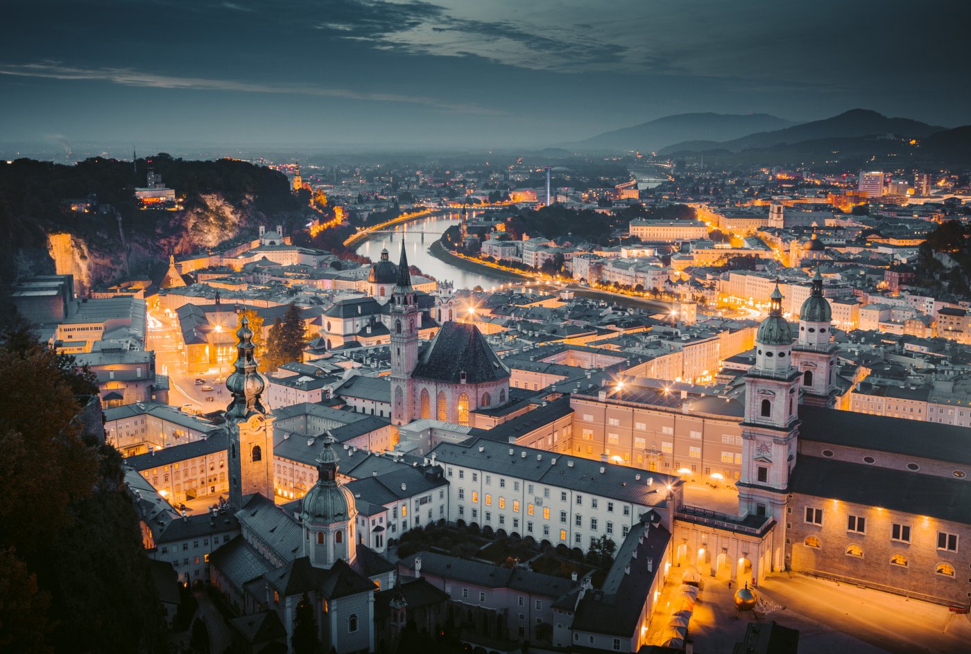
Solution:
{"label": "green-domed church turret with lantern, nearest dome in the foreground", "polygon": [[354,496],[337,481],[338,456],[327,432],[317,457],[317,483],[303,498],[303,552],[315,568],[330,568],[338,559],[352,564],[357,556]]}

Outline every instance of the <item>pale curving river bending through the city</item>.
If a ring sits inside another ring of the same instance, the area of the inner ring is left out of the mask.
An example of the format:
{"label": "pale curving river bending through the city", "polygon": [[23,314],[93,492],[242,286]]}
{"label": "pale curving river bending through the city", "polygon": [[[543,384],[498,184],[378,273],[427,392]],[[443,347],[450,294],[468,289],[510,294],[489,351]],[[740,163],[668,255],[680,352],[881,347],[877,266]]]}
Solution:
{"label": "pale curving river bending through the city", "polygon": [[[475,213],[470,213],[469,218]],[[401,240],[405,241],[405,250],[408,252],[408,263],[418,266],[422,273],[426,273],[439,281],[452,281],[455,289],[473,288],[482,286],[491,288],[500,283],[499,279],[486,277],[477,273],[469,273],[452,264],[446,263],[441,259],[436,259],[428,252],[428,248],[442,238],[442,233],[452,225],[457,225],[459,213],[447,213],[445,215],[429,216],[413,222],[406,222],[402,225],[395,225],[393,232],[376,233],[367,241],[357,246],[357,253],[371,257],[372,261],[381,258],[382,248],[387,248],[391,255],[391,261],[398,262],[399,252],[401,251]]]}

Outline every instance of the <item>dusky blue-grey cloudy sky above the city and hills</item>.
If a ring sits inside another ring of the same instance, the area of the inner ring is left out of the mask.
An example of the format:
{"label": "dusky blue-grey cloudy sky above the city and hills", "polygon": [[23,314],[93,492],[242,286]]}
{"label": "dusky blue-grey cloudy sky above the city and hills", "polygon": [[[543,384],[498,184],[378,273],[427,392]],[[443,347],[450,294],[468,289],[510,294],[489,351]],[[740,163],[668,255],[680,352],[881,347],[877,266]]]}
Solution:
{"label": "dusky blue-grey cloudy sky above the city and hills", "polygon": [[950,127],[969,24],[965,2],[9,2],[0,141],[547,146],[857,107]]}

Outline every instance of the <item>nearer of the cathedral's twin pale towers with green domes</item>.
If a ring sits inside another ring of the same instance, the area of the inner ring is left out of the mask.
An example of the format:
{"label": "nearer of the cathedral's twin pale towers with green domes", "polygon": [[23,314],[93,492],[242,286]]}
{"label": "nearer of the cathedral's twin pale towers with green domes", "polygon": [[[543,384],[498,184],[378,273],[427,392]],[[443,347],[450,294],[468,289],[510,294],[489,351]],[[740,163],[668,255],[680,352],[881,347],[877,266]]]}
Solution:
{"label": "nearer of the cathedral's twin pale towers with green domes", "polygon": [[739,512],[771,516],[779,540],[773,565],[784,565],[788,476],[795,465],[798,438],[799,371],[792,367],[792,331],[783,317],[783,294],[776,284],[769,315],[755,335],[755,365],[745,376],[742,423],[742,474]]}

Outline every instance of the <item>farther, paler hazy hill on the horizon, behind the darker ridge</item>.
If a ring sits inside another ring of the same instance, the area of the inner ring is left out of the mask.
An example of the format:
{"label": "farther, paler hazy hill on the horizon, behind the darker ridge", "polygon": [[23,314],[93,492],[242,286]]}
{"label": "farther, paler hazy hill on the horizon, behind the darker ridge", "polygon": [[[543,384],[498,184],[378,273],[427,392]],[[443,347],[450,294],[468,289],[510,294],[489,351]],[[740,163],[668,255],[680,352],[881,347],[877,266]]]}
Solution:
{"label": "farther, paler hazy hill on the horizon, behind the darker ridge", "polygon": [[[574,149],[640,149],[653,152],[684,141],[719,142],[794,123],[770,114],[676,114],[633,127],[604,132],[564,147]],[[683,148],[682,148],[683,149]]]}

